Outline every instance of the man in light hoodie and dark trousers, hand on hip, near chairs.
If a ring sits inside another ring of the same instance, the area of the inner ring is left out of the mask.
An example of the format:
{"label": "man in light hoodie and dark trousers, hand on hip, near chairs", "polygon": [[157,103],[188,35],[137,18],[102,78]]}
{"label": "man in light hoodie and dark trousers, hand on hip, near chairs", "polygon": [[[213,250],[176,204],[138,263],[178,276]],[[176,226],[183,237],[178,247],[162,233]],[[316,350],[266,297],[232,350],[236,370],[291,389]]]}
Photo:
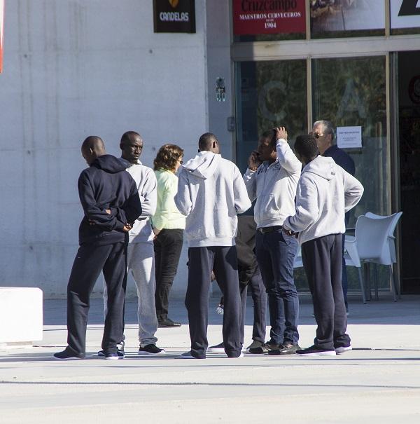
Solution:
{"label": "man in light hoodie and dark trousers, hand on hip, near chairs", "polygon": [[314,345],[298,355],[329,356],[351,350],[342,291],[344,214],[356,206],[363,186],[332,158],[318,156],[313,135],[300,135],[295,152],[304,163],[297,184],[296,210],[283,232],[298,233],[302,260],[318,328]]}

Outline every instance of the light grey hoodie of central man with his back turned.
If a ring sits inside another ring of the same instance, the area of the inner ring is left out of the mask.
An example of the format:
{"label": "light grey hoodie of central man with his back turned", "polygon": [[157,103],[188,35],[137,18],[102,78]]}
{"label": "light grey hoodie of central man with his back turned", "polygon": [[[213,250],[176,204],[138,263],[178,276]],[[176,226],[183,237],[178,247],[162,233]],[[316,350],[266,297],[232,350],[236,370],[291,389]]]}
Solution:
{"label": "light grey hoodie of central man with his back turned", "polygon": [[210,151],[201,151],[183,165],[174,200],[187,216],[189,247],[235,245],[237,214],[251,207],[235,163]]}

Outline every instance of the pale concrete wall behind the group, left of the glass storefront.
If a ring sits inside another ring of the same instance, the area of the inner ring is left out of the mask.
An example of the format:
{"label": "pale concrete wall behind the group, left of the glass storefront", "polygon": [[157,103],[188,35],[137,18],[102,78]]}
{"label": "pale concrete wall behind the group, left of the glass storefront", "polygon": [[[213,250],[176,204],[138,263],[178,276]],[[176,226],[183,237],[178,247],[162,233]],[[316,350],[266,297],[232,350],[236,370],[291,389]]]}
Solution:
{"label": "pale concrete wall behind the group, left of the glass storefront", "polygon": [[[65,296],[78,247],[76,182],[87,135],[103,137],[117,155],[122,133],[140,132],[146,165],[165,142],[193,156],[208,130],[206,4],[195,4],[197,34],[154,34],[152,1],[7,2],[0,285]],[[185,289],[185,263],[184,252],[174,294]]]}

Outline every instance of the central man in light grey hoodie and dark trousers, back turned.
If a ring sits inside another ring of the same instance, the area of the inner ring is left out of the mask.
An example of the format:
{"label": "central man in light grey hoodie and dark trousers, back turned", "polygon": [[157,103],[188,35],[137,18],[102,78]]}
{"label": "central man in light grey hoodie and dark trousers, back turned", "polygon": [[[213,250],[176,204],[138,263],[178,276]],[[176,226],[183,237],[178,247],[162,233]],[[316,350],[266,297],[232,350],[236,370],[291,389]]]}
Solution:
{"label": "central man in light grey hoodie and dark trousers, back turned", "polygon": [[214,270],[225,298],[223,343],[228,357],[242,349],[237,252],[237,214],[251,207],[237,166],[220,155],[218,140],[206,132],[200,137],[199,153],[183,165],[174,200],[186,215],[188,240],[188,287],[186,308],[191,350],[183,358],[204,359],[209,320],[209,288]]}

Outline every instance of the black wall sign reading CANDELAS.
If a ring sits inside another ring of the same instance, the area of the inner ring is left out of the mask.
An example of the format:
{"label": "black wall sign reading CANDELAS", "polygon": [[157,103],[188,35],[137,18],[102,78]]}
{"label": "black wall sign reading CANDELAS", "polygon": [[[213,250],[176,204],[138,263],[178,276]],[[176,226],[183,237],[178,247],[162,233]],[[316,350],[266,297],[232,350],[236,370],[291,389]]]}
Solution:
{"label": "black wall sign reading CANDELAS", "polygon": [[195,0],[153,0],[155,32],[195,32]]}

